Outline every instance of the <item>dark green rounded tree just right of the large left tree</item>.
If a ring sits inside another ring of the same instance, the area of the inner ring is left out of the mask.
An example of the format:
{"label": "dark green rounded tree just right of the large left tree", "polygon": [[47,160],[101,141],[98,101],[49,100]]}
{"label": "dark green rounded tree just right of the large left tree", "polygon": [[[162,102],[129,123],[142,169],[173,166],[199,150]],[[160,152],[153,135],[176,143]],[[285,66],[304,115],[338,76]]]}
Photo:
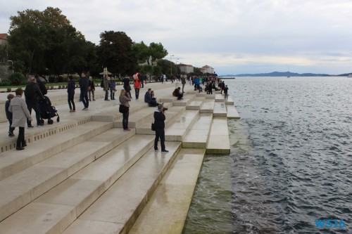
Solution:
{"label": "dark green rounded tree just right of the large left tree", "polygon": [[100,34],[99,62],[115,74],[137,72],[137,58],[132,50],[132,39],[125,32],[105,31]]}

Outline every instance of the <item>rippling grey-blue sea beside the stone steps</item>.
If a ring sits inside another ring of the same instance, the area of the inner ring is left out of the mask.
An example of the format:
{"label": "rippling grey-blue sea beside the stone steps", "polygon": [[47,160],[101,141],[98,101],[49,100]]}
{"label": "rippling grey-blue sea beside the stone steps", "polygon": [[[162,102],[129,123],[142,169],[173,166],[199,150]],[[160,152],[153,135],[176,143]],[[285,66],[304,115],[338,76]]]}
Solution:
{"label": "rippling grey-blue sea beside the stone steps", "polygon": [[352,78],[224,79],[241,119],[183,233],[352,233]]}

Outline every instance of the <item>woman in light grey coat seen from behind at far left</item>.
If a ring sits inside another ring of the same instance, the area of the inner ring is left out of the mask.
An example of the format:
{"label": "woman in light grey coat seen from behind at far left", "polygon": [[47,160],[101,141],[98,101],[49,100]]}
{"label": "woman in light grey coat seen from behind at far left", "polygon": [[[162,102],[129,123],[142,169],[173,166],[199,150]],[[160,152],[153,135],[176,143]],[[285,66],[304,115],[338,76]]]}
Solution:
{"label": "woman in light grey coat seen from behind at far left", "polygon": [[27,144],[25,143],[25,123],[26,120],[32,121],[30,111],[27,108],[25,100],[23,100],[23,90],[21,88],[16,89],[15,98],[11,100],[8,111],[13,114],[12,127],[18,126],[18,138],[16,142],[16,150],[24,150]]}

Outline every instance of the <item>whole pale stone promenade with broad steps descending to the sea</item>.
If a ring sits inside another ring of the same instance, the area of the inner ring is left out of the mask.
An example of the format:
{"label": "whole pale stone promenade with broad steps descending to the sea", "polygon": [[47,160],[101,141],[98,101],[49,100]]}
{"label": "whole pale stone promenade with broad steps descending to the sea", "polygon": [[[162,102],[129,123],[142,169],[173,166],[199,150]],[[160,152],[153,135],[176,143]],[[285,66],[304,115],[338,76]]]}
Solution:
{"label": "whole pale stone promenade with broad steps descending to the sea", "polygon": [[[66,89],[51,89],[60,122],[25,129],[20,151],[18,129],[8,137],[8,93],[0,89],[0,233],[182,233],[203,157],[230,153],[227,119],[239,115],[218,91],[198,93],[186,84],[177,100],[175,86],[182,84],[148,83],[139,100],[131,91],[132,131],[122,130],[122,86],[110,101],[96,87],[89,110],[77,88],[76,112],[69,112]],[[153,150],[156,108],[144,103],[148,88],[168,108],[167,153]]]}

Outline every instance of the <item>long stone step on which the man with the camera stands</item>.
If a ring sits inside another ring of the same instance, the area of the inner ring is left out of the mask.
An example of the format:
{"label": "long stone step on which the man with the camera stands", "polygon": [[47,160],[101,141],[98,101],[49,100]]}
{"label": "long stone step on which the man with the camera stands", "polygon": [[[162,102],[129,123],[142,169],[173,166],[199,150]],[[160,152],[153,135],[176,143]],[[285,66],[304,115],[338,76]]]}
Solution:
{"label": "long stone step on which the man with the camera stands", "polygon": [[128,233],[168,170],[181,143],[168,142],[170,151],[149,150],[63,233]]}

